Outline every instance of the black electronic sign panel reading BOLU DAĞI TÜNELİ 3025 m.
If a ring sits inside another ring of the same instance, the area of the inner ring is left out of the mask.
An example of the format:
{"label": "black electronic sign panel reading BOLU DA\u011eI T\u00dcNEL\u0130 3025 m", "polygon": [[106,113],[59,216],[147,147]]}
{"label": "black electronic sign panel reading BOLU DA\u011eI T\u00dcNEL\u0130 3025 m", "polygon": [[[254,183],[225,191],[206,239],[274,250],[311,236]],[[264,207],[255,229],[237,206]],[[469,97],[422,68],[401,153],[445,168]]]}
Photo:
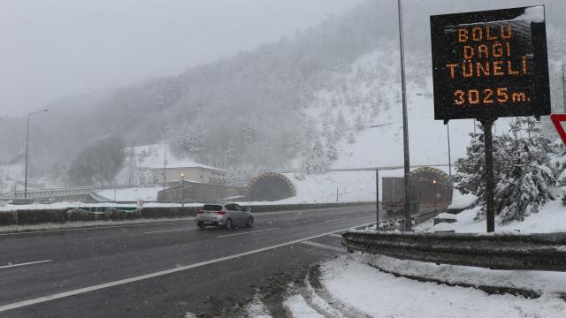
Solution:
{"label": "black electronic sign panel reading BOLU DA\u011eI T\u00dcNEL\u0130 3025 m", "polygon": [[544,6],[431,16],[434,117],[550,114]]}

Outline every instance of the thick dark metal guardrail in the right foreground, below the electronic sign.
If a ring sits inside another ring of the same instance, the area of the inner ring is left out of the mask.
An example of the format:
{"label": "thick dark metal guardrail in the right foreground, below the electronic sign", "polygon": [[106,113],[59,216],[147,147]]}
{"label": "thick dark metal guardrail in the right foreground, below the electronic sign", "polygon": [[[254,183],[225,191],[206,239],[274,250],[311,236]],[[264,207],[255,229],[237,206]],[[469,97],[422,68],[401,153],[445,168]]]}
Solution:
{"label": "thick dark metal guardrail in the right foreground, below the electronic sign", "polygon": [[566,270],[566,232],[429,233],[348,231],[348,251],[487,269]]}

